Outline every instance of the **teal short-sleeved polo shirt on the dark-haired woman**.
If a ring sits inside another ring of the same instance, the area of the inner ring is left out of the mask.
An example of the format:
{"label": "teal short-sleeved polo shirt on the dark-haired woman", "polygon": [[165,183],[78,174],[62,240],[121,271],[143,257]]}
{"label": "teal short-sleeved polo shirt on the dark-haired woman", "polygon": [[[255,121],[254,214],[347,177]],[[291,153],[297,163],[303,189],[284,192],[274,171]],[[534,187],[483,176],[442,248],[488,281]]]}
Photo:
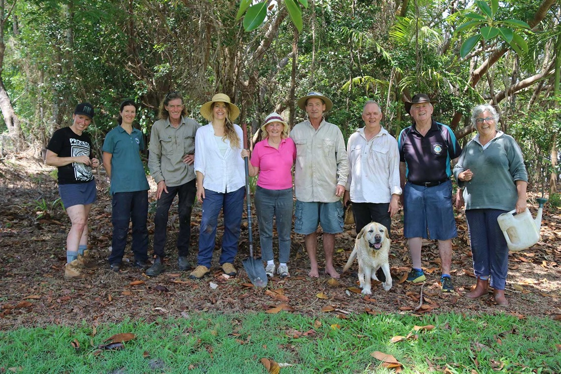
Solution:
{"label": "teal short-sleeved polo shirt on the dark-haired woman", "polygon": [[132,128],[130,135],[117,126],[105,135],[102,150],[111,153],[111,195],[117,192],[150,190],[140,151],[144,150],[142,132]]}

